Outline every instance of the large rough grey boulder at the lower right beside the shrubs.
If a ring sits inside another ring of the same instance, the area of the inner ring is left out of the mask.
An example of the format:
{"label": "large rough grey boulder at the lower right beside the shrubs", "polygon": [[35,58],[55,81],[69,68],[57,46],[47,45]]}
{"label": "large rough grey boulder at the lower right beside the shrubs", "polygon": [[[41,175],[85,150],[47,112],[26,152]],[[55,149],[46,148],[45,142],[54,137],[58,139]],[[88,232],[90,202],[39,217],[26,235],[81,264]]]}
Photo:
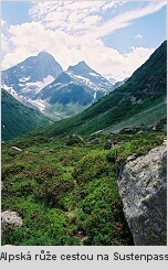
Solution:
{"label": "large rough grey boulder at the lower right beside the shrubs", "polygon": [[135,246],[166,246],[167,147],[127,161],[117,183]]}

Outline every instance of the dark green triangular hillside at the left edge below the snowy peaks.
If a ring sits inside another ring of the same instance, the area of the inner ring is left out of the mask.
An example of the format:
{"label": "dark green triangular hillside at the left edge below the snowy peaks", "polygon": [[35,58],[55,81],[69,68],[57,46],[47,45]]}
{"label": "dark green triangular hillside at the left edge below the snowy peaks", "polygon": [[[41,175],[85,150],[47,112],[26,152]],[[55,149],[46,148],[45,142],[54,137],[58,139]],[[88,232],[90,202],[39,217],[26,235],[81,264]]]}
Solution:
{"label": "dark green triangular hillside at the left edge below the snowy peaks", "polygon": [[10,140],[23,132],[49,125],[51,120],[1,89],[1,138]]}

